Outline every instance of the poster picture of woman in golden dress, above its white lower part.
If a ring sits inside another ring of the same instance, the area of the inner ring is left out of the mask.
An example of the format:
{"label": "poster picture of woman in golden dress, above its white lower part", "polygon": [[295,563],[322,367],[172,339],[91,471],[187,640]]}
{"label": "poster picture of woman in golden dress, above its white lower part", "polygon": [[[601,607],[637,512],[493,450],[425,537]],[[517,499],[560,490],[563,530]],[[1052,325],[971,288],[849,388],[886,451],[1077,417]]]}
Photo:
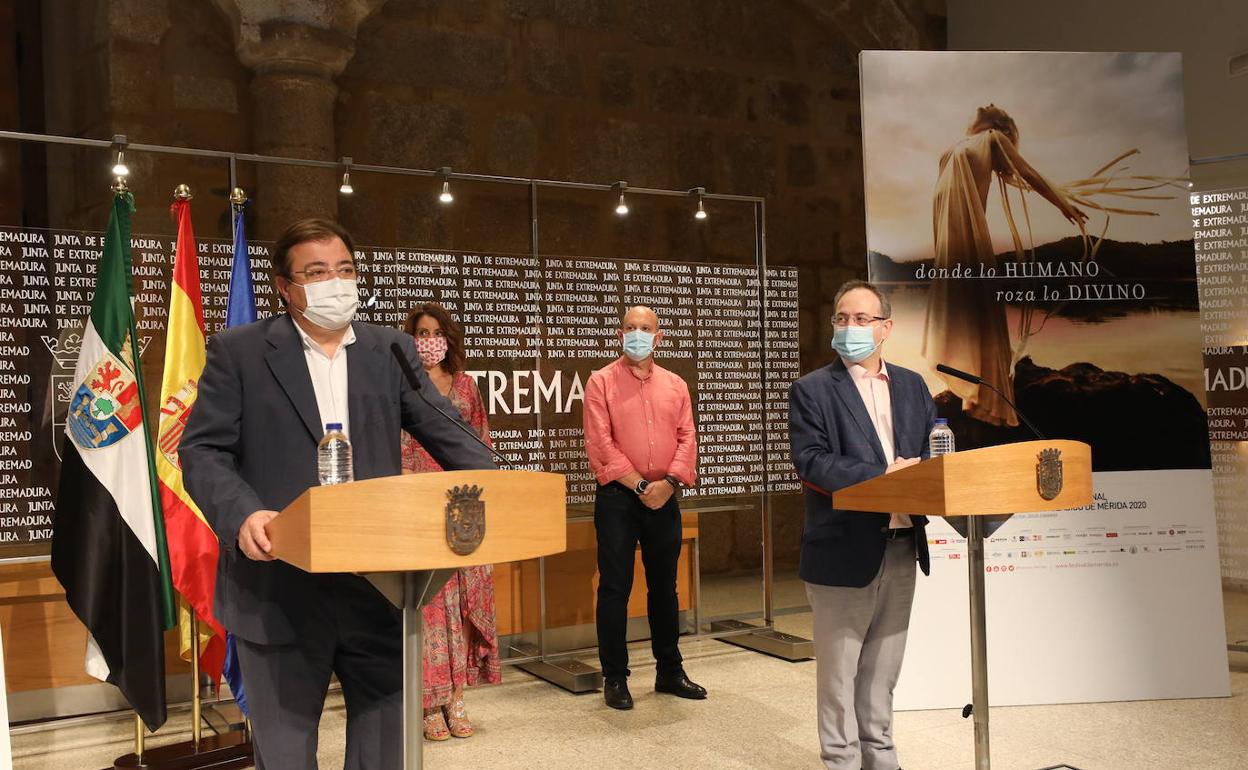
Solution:
{"label": "poster picture of woman in golden dress, above its white lower part", "polygon": [[1181,57],[866,51],[861,89],[890,362],[957,448],[1032,438],[1012,401],[1098,469],[1208,467]]}

